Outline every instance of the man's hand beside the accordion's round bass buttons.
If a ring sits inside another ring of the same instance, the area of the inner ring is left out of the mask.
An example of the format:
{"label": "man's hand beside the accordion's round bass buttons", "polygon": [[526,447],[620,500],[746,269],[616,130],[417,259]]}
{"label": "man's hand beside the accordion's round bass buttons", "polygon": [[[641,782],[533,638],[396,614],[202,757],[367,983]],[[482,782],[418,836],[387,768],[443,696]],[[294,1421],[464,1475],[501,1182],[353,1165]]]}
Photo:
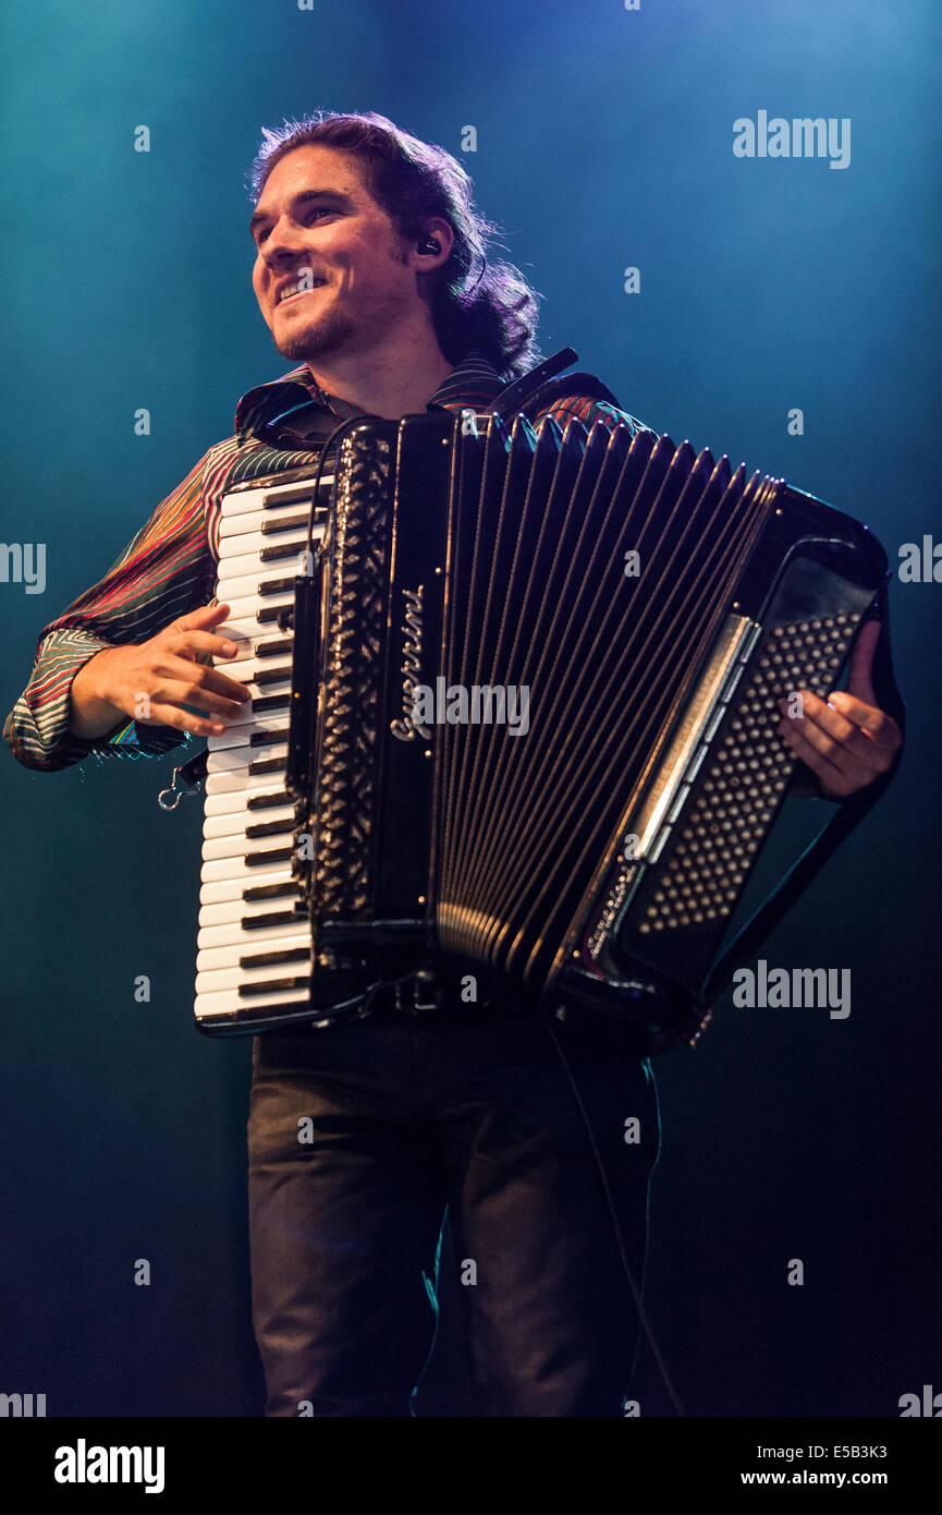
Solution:
{"label": "man's hand beside the accordion's round bass buttons", "polygon": [[789,717],[788,700],[780,700],[783,720],[778,727],[797,758],[818,776],[827,800],[847,800],[857,789],[878,779],[903,745],[903,732],[892,715],[875,703],[871,673],[880,623],[860,629],[851,654],[847,689],[834,689],[827,701],[810,689],[801,694],[800,717]]}

